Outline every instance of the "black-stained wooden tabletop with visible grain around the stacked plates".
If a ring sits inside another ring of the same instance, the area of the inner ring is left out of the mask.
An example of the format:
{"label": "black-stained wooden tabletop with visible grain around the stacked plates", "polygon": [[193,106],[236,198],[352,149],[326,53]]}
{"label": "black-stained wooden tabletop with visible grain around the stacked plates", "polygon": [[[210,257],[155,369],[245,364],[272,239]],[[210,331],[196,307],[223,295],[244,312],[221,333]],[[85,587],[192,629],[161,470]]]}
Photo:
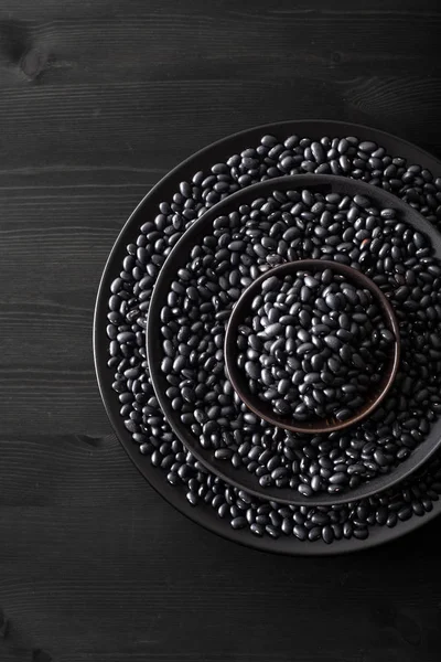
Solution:
{"label": "black-stained wooden tabletop with visible grain around the stacked plates", "polygon": [[440,522],[287,558],[141,478],[96,384],[106,257],[230,132],[369,124],[441,156],[437,1],[1,0],[0,661],[438,662]]}

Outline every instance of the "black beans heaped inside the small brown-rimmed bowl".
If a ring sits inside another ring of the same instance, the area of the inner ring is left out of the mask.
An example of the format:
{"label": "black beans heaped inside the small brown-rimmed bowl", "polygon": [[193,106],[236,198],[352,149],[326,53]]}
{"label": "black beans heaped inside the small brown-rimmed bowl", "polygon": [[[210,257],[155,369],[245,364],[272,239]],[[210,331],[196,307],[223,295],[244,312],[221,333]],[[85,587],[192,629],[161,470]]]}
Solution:
{"label": "black beans heaped inside the small brown-rimmed bowl", "polygon": [[330,268],[272,275],[250,309],[237,363],[275,414],[342,421],[375,396],[395,338],[368,289]]}

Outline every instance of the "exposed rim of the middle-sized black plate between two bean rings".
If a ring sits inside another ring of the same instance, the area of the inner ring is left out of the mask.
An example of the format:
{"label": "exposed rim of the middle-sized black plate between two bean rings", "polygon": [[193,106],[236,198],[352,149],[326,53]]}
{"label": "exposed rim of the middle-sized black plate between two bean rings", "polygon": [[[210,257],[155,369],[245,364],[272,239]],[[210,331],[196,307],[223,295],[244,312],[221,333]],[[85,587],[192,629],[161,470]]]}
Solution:
{"label": "exposed rim of the middle-sized black plate between two bean rings", "polygon": [[[213,206],[195,221],[190,229],[187,229],[176,243],[175,247],[166,258],[154,286],[148,318],[147,350],[150,376],[154,392],[169,424],[184,446],[208,469],[230,484],[246,490],[248,493],[259,496],[260,499],[268,499],[280,503],[295,503],[299,505],[331,505],[357,501],[372,494],[377,494],[410,476],[410,473],[418,469],[439,447],[441,442],[441,419],[433,424],[426,440],[412,451],[410,457],[389,473],[380,474],[369,482],[362,483],[358,488],[347,490],[341,494],[319,493],[318,495],[314,494],[313,496],[306,498],[302,496],[297,490],[292,490],[291,488],[261,488],[256,474],[247,471],[245,467],[236,469],[229,462],[215,460],[213,451],[201,446],[198,439],[196,439],[191,430],[181,423],[179,413],[172,408],[171,401],[165,395],[168,382],[165,375],[161,371],[161,361],[163,359],[162,338],[160,334],[161,309],[170,291],[171,284],[176,278],[178,270],[181,267],[184,267],[189,261],[193,246],[205,235],[211,234],[213,222],[218,216],[229,214],[237,210],[241,204],[249,204],[252,200],[270,195],[272,191],[289,191],[302,188],[322,194],[341,193],[352,196],[356,194],[366,195],[369,196],[378,207],[394,207],[398,210],[402,221],[430,237],[434,253],[437,257],[441,259],[441,234],[433,225],[426,221],[423,216],[418,214],[402,201],[398,200],[391,193],[387,193],[381,189],[377,189],[364,182],[335,175],[299,174],[270,179],[247,186]],[[286,265],[283,265],[283,267],[287,268]],[[395,365],[394,373],[396,372],[396,367],[397,366]]]}

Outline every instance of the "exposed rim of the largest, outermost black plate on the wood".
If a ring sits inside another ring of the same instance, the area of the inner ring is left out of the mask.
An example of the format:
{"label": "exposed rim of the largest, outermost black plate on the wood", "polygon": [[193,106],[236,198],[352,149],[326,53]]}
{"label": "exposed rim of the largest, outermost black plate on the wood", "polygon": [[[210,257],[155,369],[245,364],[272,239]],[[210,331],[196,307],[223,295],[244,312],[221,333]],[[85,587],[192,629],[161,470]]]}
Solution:
{"label": "exposed rim of the largest, outermost black plate on the wood", "polygon": [[197,170],[208,169],[213,163],[227,159],[232,153],[240,152],[240,150],[250,145],[258,143],[265,134],[273,134],[280,136],[280,138],[299,134],[301,136],[309,136],[312,139],[319,139],[325,135],[341,137],[357,136],[362,140],[375,140],[389,153],[400,156],[410,163],[419,163],[423,168],[429,169],[434,177],[441,177],[441,162],[419,147],[370,127],[329,120],[284,121],[254,127],[228,136],[194,153],[164,177],[139,203],[122,227],[106,263],[97,293],[94,318],[94,359],[98,385],[110,423],[135,466],[164,499],[194,522],[234,542],[272,553],[333,555],[366,549],[400,537],[418,528],[423,523],[429,522],[441,512],[441,501],[435,501],[431,512],[426,513],[422,517],[412,516],[407,521],[398,522],[396,526],[390,528],[386,526],[373,526],[367,540],[357,540],[356,537],[349,540],[343,538],[334,542],[332,545],[326,545],[323,541],[315,541],[314,543],[301,542],[293,536],[282,536],[278,540],[270,537],[258,538],[248,530],[235,531],[230,527],[228,521],[219,519],[208,504],[202,503],[197,508],[193,508],[186,501],[184,490],[169,484],[165,473],[152,467],[149,458],[139,452],[139,447],[133,442],[130,433],[123,426],[122,417],[119,414],[120,405],[118,395],[111,388],[114,371],[107,366],[107,302],[110,284],[119,274],[122,259],[127,254],[126,245],[138,235],[141,224],[148,217],[157,214],[158,205],[163,200],[172,197],[179,189],[181,181],[190,180]]}

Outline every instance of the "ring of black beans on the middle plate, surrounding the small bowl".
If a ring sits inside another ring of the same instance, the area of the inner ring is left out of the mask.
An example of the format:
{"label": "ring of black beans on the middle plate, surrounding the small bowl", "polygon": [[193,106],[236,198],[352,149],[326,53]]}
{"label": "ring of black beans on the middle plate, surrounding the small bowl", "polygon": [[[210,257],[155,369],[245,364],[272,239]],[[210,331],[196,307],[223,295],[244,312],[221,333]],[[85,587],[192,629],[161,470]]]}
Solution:
{"label": "ring of black beans on the middle plate, surrounding the small bowl", "polygon": [[[312,209],[321,210],[320,222]],[[251,200],[215,218],[207,232],[176,270],[160,330],[166,395],[201,446],[254,473],[262,488],[291,488],[303,496],[356,488],[407,459],[430,431],[428,415],[441,401],[438,334],[421,333],[422,325],[434,330],[441,321],[441,267],[427,237],[368,197],[309,190]],[[268,257],[335,260],[364,270],[389,297],[402,357],[394,387],[369,419],[346,431],[291,434],[251,413],[234,392],[225,371],[226,322],[245,288],[270,268]]]}

